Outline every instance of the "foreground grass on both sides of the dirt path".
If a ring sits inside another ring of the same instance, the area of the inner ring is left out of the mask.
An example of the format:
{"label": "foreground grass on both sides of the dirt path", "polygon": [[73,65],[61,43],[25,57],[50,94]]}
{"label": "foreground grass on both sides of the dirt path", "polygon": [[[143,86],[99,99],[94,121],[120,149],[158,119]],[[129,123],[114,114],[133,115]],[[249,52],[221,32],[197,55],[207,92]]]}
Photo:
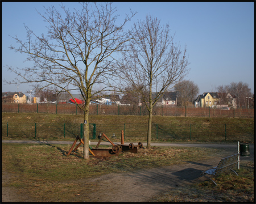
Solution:
{"label": "foreground grass on both sides of the dirt path", "polygon": [[[14,179],[2,187],[15,188],[21,198],[34,202],[89,202],[78,197],[80,179],[108,173],[121,173],[184,164],[225,154],[216,148],[152,147],[138,154],[124,152],[118,157],[83,160],[82,147],[70,156],[70,145],[31,145],[2,143],[2,172]],[[151,202],[254,202],[254,162],[241,165],[239,177],[228,172],[217,177],[218,186],[205,181],[201,184],[163,192]],[[83,187],[90,192],[95,184]],[[80,191],[79,191],[80,189]],[[100,193],[100,192],[99,192]]]}

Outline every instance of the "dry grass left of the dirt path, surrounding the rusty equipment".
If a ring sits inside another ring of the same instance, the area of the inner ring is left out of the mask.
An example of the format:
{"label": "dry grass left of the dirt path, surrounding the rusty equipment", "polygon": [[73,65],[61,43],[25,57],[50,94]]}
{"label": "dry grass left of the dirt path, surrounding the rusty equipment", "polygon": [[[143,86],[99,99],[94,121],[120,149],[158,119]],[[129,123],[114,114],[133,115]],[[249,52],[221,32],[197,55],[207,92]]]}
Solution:
{"label": "dry grass left of the dirt path, surrounding the rusty equipment", "polygon": [[[83,160],[82,149],[66,156],[69,145],[2,144],[2,171],[16,176],[4,187],[14,187],[23,201],[34,202],[89,202],[77,197],[82,192],[93,192],[97,186],[80,186],[87,178],[112,173],[136,171],[180,164],[181,161],[209,159],[222,154],[221,150],[204,148],[152,147],[142,148],[138,154],[124,152],[118,157]],[[171,159],[170,159],[171,158]]]}

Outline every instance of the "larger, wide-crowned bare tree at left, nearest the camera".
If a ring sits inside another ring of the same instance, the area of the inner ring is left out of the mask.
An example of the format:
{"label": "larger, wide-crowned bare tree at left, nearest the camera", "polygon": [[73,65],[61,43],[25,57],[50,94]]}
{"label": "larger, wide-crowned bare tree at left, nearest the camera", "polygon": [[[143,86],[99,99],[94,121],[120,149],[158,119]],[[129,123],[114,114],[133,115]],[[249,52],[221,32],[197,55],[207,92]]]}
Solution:
{"label": "larger, wide-crowned bare tree at left, nearest the camera", "polygon": [[[13,37],[18,48],[10,49],[28,55],[33,67],[7,68],[22,79],[23,83],[40,83],[41,88],[55,86],[74,99],[68,86],[79,90],[85,104],[78,105],[84,111],[84,158],[89,159],[89,103],[101,91],[111,90],[113,75],[111,64],[114,53],[123,50],[129,41],[129,33],[123,30],[134,16],[131,12],[122,23],[117,23],[116,8],[110,2],[82,2],[80,10],[69,11],[63,5],[61,14],[55,7],[46,8],[40,14],[48,23],[48,33],[36,35],[25,26],[27,40]],[[14,82],[15,83],[15,82]],[[104,83],[102,90],[93,91],[95,84]]]}

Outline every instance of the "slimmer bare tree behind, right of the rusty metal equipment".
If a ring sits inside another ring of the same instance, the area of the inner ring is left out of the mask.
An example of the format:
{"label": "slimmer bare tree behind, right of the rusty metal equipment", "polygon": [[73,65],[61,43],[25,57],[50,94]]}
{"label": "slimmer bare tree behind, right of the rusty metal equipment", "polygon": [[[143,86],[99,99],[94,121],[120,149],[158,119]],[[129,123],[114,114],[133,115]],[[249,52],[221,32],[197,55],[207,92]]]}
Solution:
{"label": "slimmer bare tree behind, right of the rusty metal equipment", "polygon": [[[160,20],[146,16],[134,24],[132,33],[135,41],[129,51],[123,54],[121,67],[122,87],[135,87],[148,110],[147,148],[151,146],[152,109],[156,102],[172,85],[183,79],[187,73],[187,50],[181,52],[180,45],[173,42],[169,25],[161,26]],[[159,92],[152,98],[152,88]]]}

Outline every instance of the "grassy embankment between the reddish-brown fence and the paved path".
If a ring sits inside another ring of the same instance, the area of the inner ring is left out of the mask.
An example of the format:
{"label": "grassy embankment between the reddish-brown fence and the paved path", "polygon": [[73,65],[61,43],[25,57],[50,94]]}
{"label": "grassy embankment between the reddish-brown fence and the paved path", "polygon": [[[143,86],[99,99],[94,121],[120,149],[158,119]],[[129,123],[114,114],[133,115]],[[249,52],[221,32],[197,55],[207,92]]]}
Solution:
{"label": "grassy embankment between the reddish-brown fence and the paved path", "polygon": [[[90,115],[98,133],[109,138],[121,130],[126,142],[145,142],[147,116]],[[2,139],[48,139],[73,141],[81,134],[82,115],[2,113]],[[152,117],[151,140],[156,142],[249,142],[254,143],[254,118]],[[8,126],[8,131],[7,131]],[[90,125],[93,141],[93,125]],[[115,142],[115,141],[114,141]]]}

